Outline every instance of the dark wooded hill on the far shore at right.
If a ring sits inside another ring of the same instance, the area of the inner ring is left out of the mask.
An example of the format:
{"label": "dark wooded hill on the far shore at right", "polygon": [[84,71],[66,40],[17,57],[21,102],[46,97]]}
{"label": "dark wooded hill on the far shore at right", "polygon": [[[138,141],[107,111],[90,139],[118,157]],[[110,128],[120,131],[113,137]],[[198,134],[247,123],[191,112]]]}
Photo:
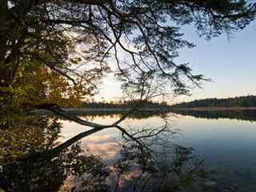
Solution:
{"label": "dark wooded hill on the far shore at right", "polygon": [[194,108],[194,107],[255,107],[256,96],[248,95],[235,98],[206,98],[193,102],[182,102],[173,105],[174,108]]}

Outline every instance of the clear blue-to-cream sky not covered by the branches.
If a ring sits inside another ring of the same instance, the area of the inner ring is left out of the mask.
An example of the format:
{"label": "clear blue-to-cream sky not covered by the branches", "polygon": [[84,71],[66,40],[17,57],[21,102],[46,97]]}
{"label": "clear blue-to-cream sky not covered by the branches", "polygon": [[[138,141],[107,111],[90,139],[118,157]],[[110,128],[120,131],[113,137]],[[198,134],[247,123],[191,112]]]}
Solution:
{"label": "clear blue-to-cream sky not covered by the branches", "polygon": [[[184,38],[196,47],[181,50],[178,63],[189,62],[194,74],[203,74],[212,82],[205,82],[202,89],[192,90],[191,96],[165,98],[166,102],[189,102],[200,98],[227,98],[256,95],[256,22],[246,29],[206,41],[199,38],[193,26],[182,28]],[[100,86],[97,98],[106,101],[122,96],[120,84],[107,77]],[[160,100],[162,98],[159,98]]]}

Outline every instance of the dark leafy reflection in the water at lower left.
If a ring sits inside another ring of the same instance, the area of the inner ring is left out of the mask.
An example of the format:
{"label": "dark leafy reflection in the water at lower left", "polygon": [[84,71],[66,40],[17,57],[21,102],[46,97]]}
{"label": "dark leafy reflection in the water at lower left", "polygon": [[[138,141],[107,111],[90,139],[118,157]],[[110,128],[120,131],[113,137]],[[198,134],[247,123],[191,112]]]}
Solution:
{"label": "dark leafy reflection in the water at lower left", "polygon": [[35,155],[58,145],[61,128],[58,119],[22,117],[16,120],[12,127],[1,130],[0,187],[3,190],[58,191],[68,177],[82,174],[94,179],[94,182],[87,180],[87,186],[93,187],[102,181],[103,175],[108,175],[102,159],[85,153],[79,143],[54,158]]}

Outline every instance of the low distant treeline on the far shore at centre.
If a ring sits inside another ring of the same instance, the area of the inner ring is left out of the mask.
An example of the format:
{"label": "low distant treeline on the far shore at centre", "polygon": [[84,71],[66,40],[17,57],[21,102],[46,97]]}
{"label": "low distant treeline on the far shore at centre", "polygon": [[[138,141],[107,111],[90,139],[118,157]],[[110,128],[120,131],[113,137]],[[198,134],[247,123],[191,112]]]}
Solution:
{"label": "low distant treeline on the far shore at centre", "polygon": [[148,108],[160,109],[169,108],[166,102],[148,102],[148,101],[132,101],[132,102],[83,102],[82,107],[96,109],[115,109],[115,108]]}

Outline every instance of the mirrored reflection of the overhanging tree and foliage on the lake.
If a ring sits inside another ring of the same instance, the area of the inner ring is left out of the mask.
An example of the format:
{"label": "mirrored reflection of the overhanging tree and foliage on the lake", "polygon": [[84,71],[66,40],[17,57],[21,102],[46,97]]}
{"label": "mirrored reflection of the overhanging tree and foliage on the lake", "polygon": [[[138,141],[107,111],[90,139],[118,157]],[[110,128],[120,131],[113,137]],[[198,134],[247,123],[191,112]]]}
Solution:
{"label": "mirrored reflection of the overhanging tree and foliage on the lake", "polygon": [[[106,122],[110,119],[96,117],[94,120]],[[146,126],[142,119],[138,119],[138,127],[134,127],[136,123],[130,126],[131,122],[134,118],[122,123],[126,127],[122,134],[109,129],[105,133],[92,134],[58,154],[51,154],[60,142],[68,139],[66,136],[78,134],[79,129],[72,126],[74,122],[46,116],[15,118],[1,130],[0,164],[3,171],[0,187],[5,191],[24,192],[154,191],[166,185],[163,185],[167,183],[164,179],[175,178],[173,187],[178,190],[183,185],[183,178],[198,177],[197,171],[184,171],[192,151],[166,140],[168,135],[174,134],[166,120],[153,127]],[[70,126],[70,134],[65,134],[68,129],[63,125]],[[86,129],[81,127],[81,131]],[[118,137],[111,138],[111,132]],[[161,154],[166,155],[166,150],[161,153],[162,147],[170,147],[174,153],[163,158]],[[160,162],[160,159],[165,161]],[[166,173],[160,168],[163,162],[166,163]]]}

